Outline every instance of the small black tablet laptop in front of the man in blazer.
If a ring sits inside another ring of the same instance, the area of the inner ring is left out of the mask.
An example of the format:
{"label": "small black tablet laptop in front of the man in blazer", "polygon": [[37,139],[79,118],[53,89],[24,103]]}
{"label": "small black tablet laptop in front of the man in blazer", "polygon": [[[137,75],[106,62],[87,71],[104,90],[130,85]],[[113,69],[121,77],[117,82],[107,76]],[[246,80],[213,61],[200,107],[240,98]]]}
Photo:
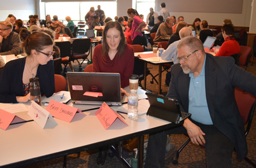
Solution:
{"label": "small black tablet laptop in front of the man in blazer", "polygon": [[146,93],[150,107],[147,115],[160,118],[172,123],[180,123],[191,114],[180,111],[179,102],[161,95]]}

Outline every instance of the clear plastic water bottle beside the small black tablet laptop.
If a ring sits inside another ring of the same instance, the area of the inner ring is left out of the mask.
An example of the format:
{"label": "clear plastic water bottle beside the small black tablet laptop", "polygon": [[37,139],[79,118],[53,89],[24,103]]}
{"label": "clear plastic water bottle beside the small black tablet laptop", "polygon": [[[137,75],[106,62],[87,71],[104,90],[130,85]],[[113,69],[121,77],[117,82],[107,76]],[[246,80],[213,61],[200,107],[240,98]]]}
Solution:
{"label": "clear plastic water bottle beside the small black tablet laptop", "polygon": [[128,118],[138,119],[138,95],[135,92],[128,95]]}

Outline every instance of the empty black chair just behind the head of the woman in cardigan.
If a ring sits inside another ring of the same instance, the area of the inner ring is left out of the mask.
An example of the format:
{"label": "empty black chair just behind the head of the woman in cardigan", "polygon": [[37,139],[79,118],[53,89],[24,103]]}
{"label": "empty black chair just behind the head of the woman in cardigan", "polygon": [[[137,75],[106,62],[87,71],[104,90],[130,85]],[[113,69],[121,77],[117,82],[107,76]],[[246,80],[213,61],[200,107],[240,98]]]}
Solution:
{"label": "empty black chair just behind the head of the woman in cardigan", "polygon": [[[70,48],[71,48],[70,41],[56,41],[55,45],[60,48],[61,64],[65,66],[64,71],[67,72],[66,67],[67,65],[69,65],[72,71],[74,72],[74,68],[70,62],[71,61],[70,60]],[[69,59],[67,59],[67,57],[69,57]]]}

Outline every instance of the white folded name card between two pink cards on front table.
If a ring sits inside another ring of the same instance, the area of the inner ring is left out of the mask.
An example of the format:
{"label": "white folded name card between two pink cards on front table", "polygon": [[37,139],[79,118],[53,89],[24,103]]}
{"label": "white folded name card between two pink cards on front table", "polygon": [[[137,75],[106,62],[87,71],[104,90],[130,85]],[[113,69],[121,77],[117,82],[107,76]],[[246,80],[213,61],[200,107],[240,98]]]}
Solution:
{"label": "white folded name card between two pink cards on front table", "polygon": [[28,115],[42,128],[44,129],[46,124],[58,123],[52,118],[52,115],[46,111],[44,108],[36,104],[36,102],[31,101],[31,106],[28,111]]}

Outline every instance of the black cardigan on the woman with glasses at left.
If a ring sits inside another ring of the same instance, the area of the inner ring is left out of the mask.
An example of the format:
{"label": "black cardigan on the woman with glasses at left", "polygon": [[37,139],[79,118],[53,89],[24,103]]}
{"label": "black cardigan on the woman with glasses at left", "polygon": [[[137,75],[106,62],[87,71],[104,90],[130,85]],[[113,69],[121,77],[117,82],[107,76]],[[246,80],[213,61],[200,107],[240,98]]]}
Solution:
{"label": "black cardigan on the woman with glasses at left", "polygon": [[[23,71],[26,57],[8,62],[0,75],[0,102],[17,103],[16,96],[24,96]],[[54,94],[54,65],[50,60],[45,65],[39,65],[36,77],[39,78],[41,94],[50,97]]]}

